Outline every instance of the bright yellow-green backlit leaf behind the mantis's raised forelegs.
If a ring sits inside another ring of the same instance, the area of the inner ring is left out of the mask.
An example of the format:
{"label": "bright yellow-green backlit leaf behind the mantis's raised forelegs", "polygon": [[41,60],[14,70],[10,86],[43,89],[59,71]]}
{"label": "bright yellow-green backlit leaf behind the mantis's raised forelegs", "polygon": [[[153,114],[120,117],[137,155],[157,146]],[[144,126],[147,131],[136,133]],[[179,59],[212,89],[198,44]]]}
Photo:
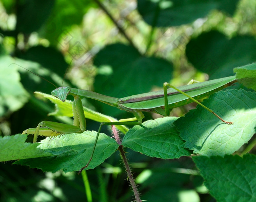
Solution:
{"label": "bright yellow-green backlit leaf behind the mantis's raised forelegs", "polygon": [[[60,99],[42,92],[35,92],[35,95],[40,99],[46,98],[55,104],[56,110],[52,113],[49,113],[50,116],[68,116],[68,117],[73,116],[72,101],[66,100],[65,102],[62,102]],[[86,119],[95,120],[97,122],[117,122],[118,121],[112,118],[111,116],[107,116],[99,112],[90,110],[87,107],[83,107],[83,110],[84,110],[84,116]],[[118,130],[121,130],[123,133],[126,133],[128,131],[128,128],[125,126],[116,126],[116,127],[118,128]]]}

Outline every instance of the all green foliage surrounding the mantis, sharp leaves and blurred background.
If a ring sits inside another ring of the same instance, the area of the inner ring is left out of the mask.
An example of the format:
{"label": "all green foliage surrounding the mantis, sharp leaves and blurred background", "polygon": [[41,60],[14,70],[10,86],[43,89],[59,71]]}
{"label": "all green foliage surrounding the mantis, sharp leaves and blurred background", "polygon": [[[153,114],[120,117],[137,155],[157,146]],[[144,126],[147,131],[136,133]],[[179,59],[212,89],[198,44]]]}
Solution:
{"label": "all green foliage surrounding the mantis, sharp leaves and blurred background", "polygon": [[[132,201],[125,159],[141,200],[256,200],[256,2],[0,3],[1,201]],[[103,126],[89,170],[77,175],[99,122],[133,115],[83,99],[85,132],[37,143],[21,135],[42,120],[73,123],[72,101],[50,96],[55,87],[42,79],[62,86],[69,63],[63,86],[116,98],[235,75],[202,102],[234,124],[195,103],[168,117],[143,112],[141,125]]]}

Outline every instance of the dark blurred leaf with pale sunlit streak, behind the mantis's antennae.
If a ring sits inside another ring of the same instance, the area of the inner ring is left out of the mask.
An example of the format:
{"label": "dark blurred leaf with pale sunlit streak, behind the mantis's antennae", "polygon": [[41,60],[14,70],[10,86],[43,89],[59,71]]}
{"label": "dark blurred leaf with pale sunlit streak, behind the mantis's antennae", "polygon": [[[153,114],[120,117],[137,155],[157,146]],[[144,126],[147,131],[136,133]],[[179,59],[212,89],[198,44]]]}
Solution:
{"label": "dark blurred leaf with pale sunlit streak, behind the mantis's antennae", "polygon": [[[54,48],[35,46],[27,50],[26,53],[18,53],[17,55],[22,59],[15,59],[14,64],[10,67],[19,70],[20,81],[31,94],[34,91],[51,92],[56,88],[53,84],[59,86],[62,84],[63,75],[68,64],[61,52]],[[64,85],[66,85],[66,82],[64,82]]]}

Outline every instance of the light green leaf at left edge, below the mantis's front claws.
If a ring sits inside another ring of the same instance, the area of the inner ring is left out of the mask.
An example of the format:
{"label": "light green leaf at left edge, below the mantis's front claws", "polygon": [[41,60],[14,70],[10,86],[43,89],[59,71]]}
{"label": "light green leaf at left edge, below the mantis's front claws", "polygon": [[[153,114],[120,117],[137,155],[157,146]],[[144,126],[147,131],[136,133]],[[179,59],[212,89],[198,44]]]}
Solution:
{"label": "light green leaf at left edge, below the mantis's front claws", "polygon": [[41,150],[39,143],[25,142],[27,135],[11,135],[0,137],[0,161],[52,156]]}

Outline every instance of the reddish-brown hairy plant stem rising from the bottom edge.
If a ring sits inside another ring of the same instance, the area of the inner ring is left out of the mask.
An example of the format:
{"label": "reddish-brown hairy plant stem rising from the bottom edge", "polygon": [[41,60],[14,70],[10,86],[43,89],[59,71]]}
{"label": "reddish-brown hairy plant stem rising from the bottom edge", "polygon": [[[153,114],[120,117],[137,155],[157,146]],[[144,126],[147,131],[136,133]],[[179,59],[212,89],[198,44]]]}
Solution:
{"label": "reddish-brown hairy plant stem rising from the bottom edge", "polygon": [[133,190],[133,193],[134,193],[134,196],[135,196],[135,200],[136,200],[136,202],[141,202],[142,200],[140,200],[139,192],[137,190],[137,186],[135,185],[134,179],[132,177],[131,169],[129,167],[127,158],[125,157],[125,152],[123,150],[123,145],[121,145],[121,141],[119,139],[118,132],[116,130],[116,127],[113,126],[113,125],[112,125],[112,131],[113,131],[113,134],[114,134],[114,137],[115,137],[117,143],[119,144],[118,150],[120,151],[121,157],[123,159],[125,170],[127,172],[127,176],[128,176],[129,181],[131,183],[132,190]]}

